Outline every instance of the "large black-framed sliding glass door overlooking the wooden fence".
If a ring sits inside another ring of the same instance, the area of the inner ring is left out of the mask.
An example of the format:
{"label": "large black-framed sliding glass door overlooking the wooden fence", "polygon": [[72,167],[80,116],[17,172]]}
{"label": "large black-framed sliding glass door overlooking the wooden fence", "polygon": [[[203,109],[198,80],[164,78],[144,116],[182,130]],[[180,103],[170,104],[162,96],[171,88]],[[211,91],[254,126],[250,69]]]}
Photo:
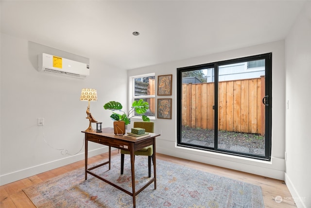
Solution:
{"label": "large black-framed sliding glass door overlooking the wooden fence", "polygon": [[271,58],[178,68],[178,146],[270,160]]}

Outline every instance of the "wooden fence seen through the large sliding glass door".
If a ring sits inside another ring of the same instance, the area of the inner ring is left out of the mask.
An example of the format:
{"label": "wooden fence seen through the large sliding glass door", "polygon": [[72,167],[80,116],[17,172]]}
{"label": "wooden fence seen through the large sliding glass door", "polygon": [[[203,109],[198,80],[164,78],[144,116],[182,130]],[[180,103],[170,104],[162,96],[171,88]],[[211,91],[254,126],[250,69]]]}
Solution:
{"label": "wooden fence seen through the large sliding glass door", "polygon": [[[265,132],[264,76],[219,82],[218,129],[229,132]],[[214,83],[182,85],[182,125],[214,129]]]}

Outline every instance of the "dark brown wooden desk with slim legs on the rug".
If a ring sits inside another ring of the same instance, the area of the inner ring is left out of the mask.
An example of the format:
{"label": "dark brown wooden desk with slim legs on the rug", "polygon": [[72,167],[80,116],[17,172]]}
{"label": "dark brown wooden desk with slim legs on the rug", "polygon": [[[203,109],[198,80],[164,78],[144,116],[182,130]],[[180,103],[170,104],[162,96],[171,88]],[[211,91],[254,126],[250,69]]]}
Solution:
{"label": "dark brown wooden desk with slim legs on the rug", "polygon": [[[156,133],[150,133],[150,137],[147,138],[142,138],[142,139],[130,139],[130,138],[125,138],[123,136],[117,136],[113,132],[113,128],[103,128],[103,132],[84,132],[85,133],[85,179],[87,180],[87,173],[93,175],[94,177],[110,184],[111,186],[116,187],[117,189],[120,189],[124,191],[125,193],[133,196],[133,207],[136,207],[136,195],[140,193],[143,189],[148,187],[150,184],[153,182],[155,183],[155,189],[156,189],[156,157],[155,157],[155,137],[159,136],[160,134]],[[92,168],[87,168],[87,143],[88,141],[95,142],[98,144],[102,145],[107,145],[109,146],[109,159],[108,161],[94,166]],[[134,152],[138,151],[144,147],[147,147],[149,145],[153,145],[153,151],[154,151],[154,177],[151,178],[149,182],[146,183],[145,186],[143,186],[141,189],[136,191],[135,189],[135,166],[134,166]],[[125,190],[121,188],[120,186],[114,184],[111,181],[108,181],[104,178],[102,178],[99,175],[96,175],[94,172],[91,170],[96,169],[98,167],[101,167],[103,165],[109,164],[109,170],[110,170],[110,159],[111,159],[111,147],[122,149],[122,150],[127,150],[130,151],[131,154],[131,172],[132,172],[132,192],[129,192],[128,190]]]}

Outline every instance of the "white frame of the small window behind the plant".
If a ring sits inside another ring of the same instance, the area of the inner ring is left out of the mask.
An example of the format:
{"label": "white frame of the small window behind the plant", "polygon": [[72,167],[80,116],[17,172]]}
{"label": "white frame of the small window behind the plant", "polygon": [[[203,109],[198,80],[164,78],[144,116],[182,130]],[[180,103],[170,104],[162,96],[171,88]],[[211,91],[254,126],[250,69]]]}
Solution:
{"label": "white frame of the small window behind the plant", "polygon": [[[139,77],[145,77],[145,76],[155,76],[155,73],[149,73],[149,74],[142,74],[142,75],[136,75],[136,76],[130,76],[129,77],[129,107],[132,106],[132,103],[137,98],[154,98],[155,95],[146,95],[146,96],[135,96],[135,78]],[[150,120],[155,120],[155,116],[148,116]],[[140,116],[134,116],[132,119],[141,120]]]}

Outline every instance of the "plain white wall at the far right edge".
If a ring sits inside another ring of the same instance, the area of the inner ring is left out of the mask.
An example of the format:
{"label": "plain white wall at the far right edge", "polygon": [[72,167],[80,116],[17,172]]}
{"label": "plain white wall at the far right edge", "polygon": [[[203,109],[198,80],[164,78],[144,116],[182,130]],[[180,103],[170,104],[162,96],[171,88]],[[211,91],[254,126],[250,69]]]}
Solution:
{"label": "plain white wall at the far right edge", "polygon": [[286,175],[298,208],[311,208],[311,2],[285,41]]}

